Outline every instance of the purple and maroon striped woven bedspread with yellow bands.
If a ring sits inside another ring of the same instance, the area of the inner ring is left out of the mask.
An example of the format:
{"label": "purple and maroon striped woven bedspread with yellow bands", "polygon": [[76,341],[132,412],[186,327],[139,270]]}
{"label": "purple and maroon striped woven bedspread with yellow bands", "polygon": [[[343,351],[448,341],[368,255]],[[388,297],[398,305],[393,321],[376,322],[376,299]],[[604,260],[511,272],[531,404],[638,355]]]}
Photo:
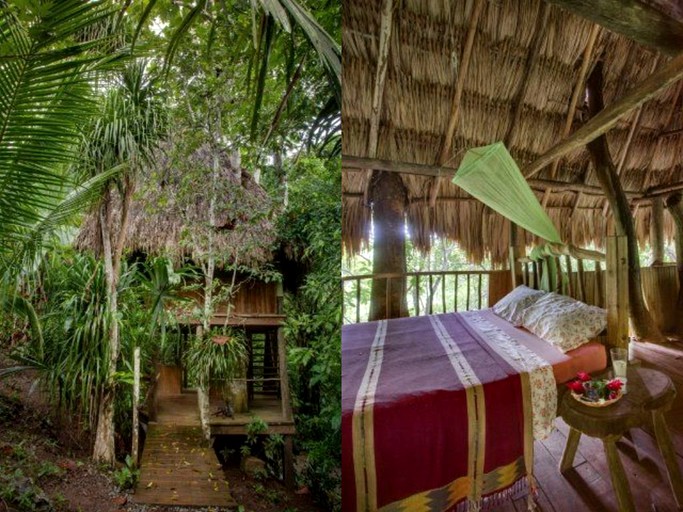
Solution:
{"label": "purple and maroon striped woven bedspread with yellow bands", "polygon": [[478,511],[533,490],[552,368],[485,315],[344,326],[342,383],[344,511]]}

